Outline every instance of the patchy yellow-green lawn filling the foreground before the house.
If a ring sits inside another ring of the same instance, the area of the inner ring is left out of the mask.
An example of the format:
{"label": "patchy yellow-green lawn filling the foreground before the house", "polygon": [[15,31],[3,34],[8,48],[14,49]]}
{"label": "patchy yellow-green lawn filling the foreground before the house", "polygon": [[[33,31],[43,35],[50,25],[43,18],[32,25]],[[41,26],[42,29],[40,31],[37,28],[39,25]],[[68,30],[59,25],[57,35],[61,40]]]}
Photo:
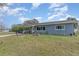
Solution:
{"label": "patchy yellow-green lawn filling the foreground before the house", "polygon": [[0,38],[0,55],[79,55],[79,36],[22,35]]}

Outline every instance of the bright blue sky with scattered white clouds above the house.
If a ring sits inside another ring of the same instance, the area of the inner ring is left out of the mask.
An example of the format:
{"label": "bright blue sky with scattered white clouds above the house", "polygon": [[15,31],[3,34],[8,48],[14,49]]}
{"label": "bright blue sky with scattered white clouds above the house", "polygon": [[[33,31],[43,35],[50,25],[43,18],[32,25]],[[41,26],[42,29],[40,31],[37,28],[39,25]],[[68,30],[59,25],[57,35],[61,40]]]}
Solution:
{"label": "bright blue sky with scattered white clouds above the house", "polygon": [[0,22],[11,27],[34,18],[39,22],[66,20],[67,17],[78,20],[78,14],[78,3],[8,3],[0,8]]}

